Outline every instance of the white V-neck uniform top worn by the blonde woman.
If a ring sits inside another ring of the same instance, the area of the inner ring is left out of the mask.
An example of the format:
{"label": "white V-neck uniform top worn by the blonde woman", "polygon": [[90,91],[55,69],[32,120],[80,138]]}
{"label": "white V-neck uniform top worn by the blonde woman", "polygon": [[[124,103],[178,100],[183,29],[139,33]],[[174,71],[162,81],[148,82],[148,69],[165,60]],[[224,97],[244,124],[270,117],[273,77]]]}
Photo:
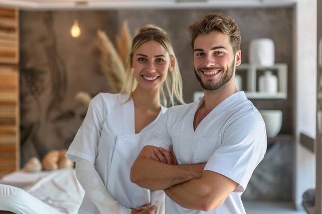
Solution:
{"label": "white V-neck uniform top worn by the blonde woman", "polygon": [[[136,134],[133,100],[124,103],[128,98],[123,94],[96,95],[66,157],[74,162],[77,157],[92,162],[113,198],[123,207],[134,208],[150,203],[150,190],[130,181],[130,169],[167,108],[162,106],[157,118]],[[79,213],[99,214],[86,194]]]}

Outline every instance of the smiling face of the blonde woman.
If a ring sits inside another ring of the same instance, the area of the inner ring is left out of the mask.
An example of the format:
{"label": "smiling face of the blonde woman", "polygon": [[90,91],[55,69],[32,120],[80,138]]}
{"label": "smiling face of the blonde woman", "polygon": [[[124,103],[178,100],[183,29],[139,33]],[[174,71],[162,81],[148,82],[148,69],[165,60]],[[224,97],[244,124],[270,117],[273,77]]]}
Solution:
{"label": "smiling face of the blonde woman", "polygon": [[138,86],[144,90],[159,90],[173,62],[168,51],[158,42],[141,44],[133,53],[132,68]]}

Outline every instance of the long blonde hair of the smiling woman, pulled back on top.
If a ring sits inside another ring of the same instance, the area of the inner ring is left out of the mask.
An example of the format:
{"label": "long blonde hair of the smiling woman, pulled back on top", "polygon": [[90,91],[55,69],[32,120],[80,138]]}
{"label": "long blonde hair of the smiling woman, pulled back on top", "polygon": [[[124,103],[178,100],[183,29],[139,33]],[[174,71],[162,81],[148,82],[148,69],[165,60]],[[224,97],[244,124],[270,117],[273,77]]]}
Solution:
{"label": "long blonde hair of the smiling woman, pulled back on top", "polygon": [[176,56],[172,48],[171,40],[165,30],[150,24],[141,27],[138,33],[133,38],[131,52],[127,63],[126,80],[120,93],[130,93],[132,95],[133,91],[135,90],[137,81],[134,77],[133,68],[131,68],[133,62],[133,54],[140,45],[148,41],[155,41],[160,43],[168,51],[171,61],[174,62],[172,72],[168,72],[167,79],[160,88],[161,104],[163,106],[168,106],[168,101],[171,106],[174,106],[177,102],[184,104],[185,102],[183,101],[182,78]]}

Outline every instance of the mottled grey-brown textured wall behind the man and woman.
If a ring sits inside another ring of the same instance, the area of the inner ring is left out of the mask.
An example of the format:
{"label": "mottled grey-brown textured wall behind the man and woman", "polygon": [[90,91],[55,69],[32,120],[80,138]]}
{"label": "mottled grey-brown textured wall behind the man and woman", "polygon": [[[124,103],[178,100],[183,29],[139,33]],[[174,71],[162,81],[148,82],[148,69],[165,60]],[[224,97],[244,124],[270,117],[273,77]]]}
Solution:
{"label": "mottled grey-brown textured wall behind the man and woman", "polygon": [[[243,63],[248,63],[248,45],[252,39],[267,37],[274,41],[275,62],[287,63],[289,67],[288,99],[252,101],[259,109],[283,110],[281,133],[292,134],[293,8],[21,11],[22,166],[33,156],[42,159],[51,149],[69,146],[86,113],[86,108],[74,98],[78,91],[93,96],[100,91],[112,92],[99,66],[98,29],[112,39],[120,32],[124,20],[129,22],[132,34],[149,23],[166,29],[181,67],[184,98],[189,103],[193,92],[202,88],[195,80],[186,29],[196,18],[211,12],[223,12],[235,18],[242,33]],[[75,18],[82,30],[78,38],[69,34]],[[292,162],[292,143],[272,145],[256,170],[245,199],[291,199],[292,171],[288,167]],[[276,170],[283,176],[272,176]],[[261,177],[267,171],[271,176],[265,181]],[[281,183],[283,188],[278,188]],[[262,192],[263,185],[271,191]]]}

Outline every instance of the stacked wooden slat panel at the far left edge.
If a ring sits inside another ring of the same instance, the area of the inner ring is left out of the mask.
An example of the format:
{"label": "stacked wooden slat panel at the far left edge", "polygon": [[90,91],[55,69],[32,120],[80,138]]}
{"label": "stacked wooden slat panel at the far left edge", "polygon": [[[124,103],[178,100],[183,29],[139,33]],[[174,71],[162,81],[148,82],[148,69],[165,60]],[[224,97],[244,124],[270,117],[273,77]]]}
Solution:
{"label": "stacked wooden slat panel at the far left edge", "polygon": [[0,8],[0,177],[20,168],[19,11]]}

